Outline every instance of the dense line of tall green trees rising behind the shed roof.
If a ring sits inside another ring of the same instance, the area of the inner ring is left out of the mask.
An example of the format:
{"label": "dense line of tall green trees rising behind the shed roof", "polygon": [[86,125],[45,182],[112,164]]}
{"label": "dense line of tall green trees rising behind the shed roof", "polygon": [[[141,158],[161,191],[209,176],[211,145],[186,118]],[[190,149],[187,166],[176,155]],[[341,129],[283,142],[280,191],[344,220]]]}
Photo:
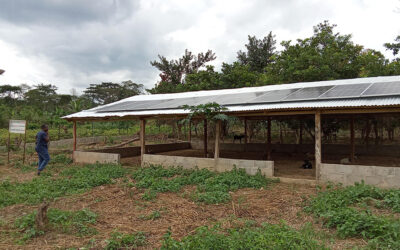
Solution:
{"label": "dense line of tall green trees rising behind the shed roof", "polygon": [[[282,41],[281,51],[276,49],[272,32],[262,39],[249,36],[246,50],[237,52],[235,62],[223,63],[220,72],[206,65],[216,58],[212,51],[193,56],[186,50],[182,58],[170,61],[159,56],[159,61],[151,65],[161,71],[161,79],[148,91],[174,93],[400,75],[399,58],[389,60],[380,51],[355,44],[350,34],[343,35],[335,29],[336,25],[328,21],[320,23],[314,27],[311,37]],[[400,36],[384,46],[397,56]]]}

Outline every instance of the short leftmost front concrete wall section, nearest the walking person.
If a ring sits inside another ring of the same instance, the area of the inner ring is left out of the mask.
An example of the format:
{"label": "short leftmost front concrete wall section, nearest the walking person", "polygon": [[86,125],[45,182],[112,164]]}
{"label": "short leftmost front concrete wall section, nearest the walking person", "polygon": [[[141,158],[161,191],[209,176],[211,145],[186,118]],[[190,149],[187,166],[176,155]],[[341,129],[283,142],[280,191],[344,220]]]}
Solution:
{"label": "short leftmost front concrete wall section, nearest the walking person", "polygon": [[97,152],[83,152],[74,151],[72,154],[72,159],[75,163],[120,163],[119,154],[109,154],[109,153],[97,153]]}

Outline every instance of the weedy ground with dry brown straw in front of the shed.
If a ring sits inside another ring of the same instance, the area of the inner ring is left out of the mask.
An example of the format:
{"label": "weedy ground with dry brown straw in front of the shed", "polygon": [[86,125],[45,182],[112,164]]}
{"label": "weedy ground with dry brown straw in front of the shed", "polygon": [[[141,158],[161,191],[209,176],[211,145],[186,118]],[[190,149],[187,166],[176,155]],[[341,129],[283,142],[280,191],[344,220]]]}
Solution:
{"label": "weedy ground with dry brown straw in front of the shed", "polygon": [[[1,249],[399,249],[400,190],[233,170],[0,161]],[[38,206],[49,202],[37,228]]]}

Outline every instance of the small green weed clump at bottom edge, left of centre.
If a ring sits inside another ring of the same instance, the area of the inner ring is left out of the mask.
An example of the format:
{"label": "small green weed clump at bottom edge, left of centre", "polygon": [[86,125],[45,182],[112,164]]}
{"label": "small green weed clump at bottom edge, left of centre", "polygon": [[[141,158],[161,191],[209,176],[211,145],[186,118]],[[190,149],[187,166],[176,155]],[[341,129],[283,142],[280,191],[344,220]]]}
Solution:
{"label": "small green weed clump at bottom edge, left of centre", "polygon": [[131,234],[123,234],[114,232],[111,234],[111,239],[107,240],[106,250],[118,249],[136,249],[147,244],[146,234],[136,232]]}

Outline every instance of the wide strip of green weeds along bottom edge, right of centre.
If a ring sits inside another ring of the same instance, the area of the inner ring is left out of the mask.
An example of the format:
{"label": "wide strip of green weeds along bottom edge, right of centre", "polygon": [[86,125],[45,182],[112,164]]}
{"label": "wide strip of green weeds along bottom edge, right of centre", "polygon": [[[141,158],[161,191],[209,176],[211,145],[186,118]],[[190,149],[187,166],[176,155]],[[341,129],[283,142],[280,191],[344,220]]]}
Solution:
{"label": "wide strip of green weeds along bottom edge, right of centre", "polygon": [[328,249],[315,237],[310,226],[296,231],[286,225],[222,229],[199,227],[194,235],[181,241],[164,236],[161,249]]}

